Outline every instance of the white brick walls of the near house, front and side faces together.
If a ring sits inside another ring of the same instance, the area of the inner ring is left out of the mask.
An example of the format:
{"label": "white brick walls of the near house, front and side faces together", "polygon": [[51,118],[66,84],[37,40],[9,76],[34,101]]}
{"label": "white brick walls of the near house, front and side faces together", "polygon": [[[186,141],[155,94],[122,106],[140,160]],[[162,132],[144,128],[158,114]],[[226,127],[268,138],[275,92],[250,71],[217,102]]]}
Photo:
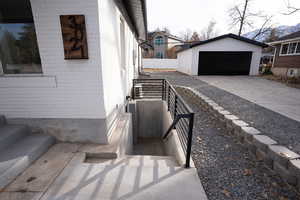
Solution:
{"label": "white brick walls of the near house, front and side faces together", "polygon": [[[0,77],[0,114],[104,119],[122,104],[137,72],[138,59],[134,66],[132,56],[138,43],[125,22],[127,71],[122,70],[121,14],[113,2],[31,0],[43,74]],[[64,60],[59,20],[64,14],[85,15],[89,59]]]}

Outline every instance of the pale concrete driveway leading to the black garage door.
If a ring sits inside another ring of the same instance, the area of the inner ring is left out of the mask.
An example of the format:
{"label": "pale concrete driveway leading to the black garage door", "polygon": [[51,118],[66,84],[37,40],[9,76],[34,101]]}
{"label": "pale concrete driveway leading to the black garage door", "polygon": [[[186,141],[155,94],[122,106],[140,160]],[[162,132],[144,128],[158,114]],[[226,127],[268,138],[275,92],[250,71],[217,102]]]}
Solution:
{"label": "pale concrete driveway leading to the black garage door", "polygon": [[300,122],[300,90],[249,76],[197,76],[197,79]]}

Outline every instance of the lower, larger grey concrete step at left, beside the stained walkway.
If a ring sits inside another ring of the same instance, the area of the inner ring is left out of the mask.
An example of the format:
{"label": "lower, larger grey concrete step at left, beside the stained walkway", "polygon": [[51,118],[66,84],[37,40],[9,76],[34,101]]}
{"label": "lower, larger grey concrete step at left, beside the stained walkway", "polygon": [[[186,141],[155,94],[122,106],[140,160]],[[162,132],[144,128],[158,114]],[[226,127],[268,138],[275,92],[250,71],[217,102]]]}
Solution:
{"label": "lower, larger grey concrete step at left, beside the stained walkway", "polygon": [[53,145],[52,136],[28,135],[0,153],[0,191]]}

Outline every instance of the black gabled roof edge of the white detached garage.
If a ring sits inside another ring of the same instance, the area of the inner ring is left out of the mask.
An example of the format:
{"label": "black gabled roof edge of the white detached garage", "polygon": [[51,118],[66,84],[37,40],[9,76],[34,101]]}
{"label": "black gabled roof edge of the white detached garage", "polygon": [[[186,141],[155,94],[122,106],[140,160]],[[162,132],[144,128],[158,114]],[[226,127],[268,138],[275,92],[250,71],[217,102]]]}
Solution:
{"label": "black gabled roof edge of the white detached garage", "polygon": [[[190,48],[200,46],[200,45],[203,45],[203,44],[206,44],[206,43],[209,43],[209,42],[214,42],[214,41],[217,41],[217,40],[221,40],[221,39],[224,39],[224,38],[232,38],[232,39],[240,40],[242,42],[247,42],[247,43],[250,43],[250,44],[253,44],[253,45],[261,46],[261,47],[264,47],[264,48],[268,47],[268,45],[266,45],[265,43],[257,42],[255,40],[251,40],[249,38],[245,38],[245,37],[242,37],[242,36],[238,36],[238,35],[229,33],[229,34],[221,35],[219,37],[215,37],[215,38],[212,38],[212,39],[209,39],[209,40],[196,42],[196,43],[192,44],[190,46]],[[189,49],[189,48],[187,48],[187,49]],[[187,49],[184,49],[184,50],[187,50]],[[184,51],[184,50],[182,50],[182,51]],[[180,51],[178,51],[178,52],[180,52]]]}

